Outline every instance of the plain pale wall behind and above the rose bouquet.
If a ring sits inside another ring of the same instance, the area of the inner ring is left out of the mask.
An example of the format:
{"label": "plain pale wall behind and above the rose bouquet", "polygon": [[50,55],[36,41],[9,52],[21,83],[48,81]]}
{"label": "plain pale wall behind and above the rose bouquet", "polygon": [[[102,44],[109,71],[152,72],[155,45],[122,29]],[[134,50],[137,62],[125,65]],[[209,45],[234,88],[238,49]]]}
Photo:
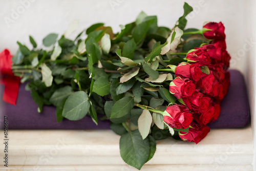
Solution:
{"label": "plain pale wall behind and above the rose bouquet", "polygon": [[[187,27],[200,29],[206,21],[222,21],[226,27],[231,68],[239,69],[246,79],[255,142],[256,3],[253,0],[186,2],[195,10],[187,17]],[[176,0],[0,0],[0,51],[8,48],[14,54],[18,48],[17,40],[31,47],[29,35],[40,46],[42,38],[48,33],[61,35],[75,20],[78,20],[79,26],[70,38],[98,22],[118,32],[120,24],[132,22],[142,10],[148,15],[157,15],[159,26],[172,28],[183,13],[183,4],[184,1]]]}

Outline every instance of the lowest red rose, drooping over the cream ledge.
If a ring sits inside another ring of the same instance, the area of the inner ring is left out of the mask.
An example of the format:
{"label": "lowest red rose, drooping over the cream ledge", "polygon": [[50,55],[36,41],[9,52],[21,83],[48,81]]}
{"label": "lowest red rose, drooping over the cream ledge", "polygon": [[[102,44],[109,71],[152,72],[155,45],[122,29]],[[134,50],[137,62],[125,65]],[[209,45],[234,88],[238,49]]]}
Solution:
{"label": "lowest red rose, drooping over the cream ledge", "polygon": [[194,122],[190,123],[188,133],[179,132],[179,136],[183,141],[199,143],[210,132],[206,125],[198,125]]}

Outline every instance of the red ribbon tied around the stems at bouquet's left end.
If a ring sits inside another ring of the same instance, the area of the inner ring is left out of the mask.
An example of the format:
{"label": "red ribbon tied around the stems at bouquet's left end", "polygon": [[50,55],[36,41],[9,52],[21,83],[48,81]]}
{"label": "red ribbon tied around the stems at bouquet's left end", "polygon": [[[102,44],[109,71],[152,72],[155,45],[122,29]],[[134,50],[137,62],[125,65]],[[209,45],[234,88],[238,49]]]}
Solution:
{"label": "red ribbon tied around the stems at bouquet's left end", "polygon": [[12,55],[5,49],[0,53],[0,83],[5,86],[3,100],[16,104],[20,79],[12,72]]}

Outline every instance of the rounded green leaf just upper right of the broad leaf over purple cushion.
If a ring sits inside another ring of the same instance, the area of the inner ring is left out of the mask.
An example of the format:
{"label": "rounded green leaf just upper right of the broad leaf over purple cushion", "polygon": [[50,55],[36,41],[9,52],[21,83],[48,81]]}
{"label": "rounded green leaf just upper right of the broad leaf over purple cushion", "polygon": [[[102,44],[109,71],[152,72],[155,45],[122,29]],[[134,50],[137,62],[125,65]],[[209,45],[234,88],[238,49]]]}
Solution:
{"label": "rounded green leaf just upper right of the broad leaf over purple cushion", "polygon": [[100,96],[110,94],[110,81],[108,77],[99,77],[93,84],[93,92]]}

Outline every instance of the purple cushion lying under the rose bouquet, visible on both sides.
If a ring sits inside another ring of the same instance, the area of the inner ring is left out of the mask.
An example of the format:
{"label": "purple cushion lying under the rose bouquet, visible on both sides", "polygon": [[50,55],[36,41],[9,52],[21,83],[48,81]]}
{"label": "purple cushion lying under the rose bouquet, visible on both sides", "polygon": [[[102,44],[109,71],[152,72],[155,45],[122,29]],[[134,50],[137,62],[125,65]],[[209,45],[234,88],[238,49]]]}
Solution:
{"label": "purple cushion lying under the rose bouquet, visible on both sides", "polygon": [[[221,104],[219,119],[208,124],[210,128],[237,128],[244,127],[250,121],[249,103],[243,75],[237,70],[230,70],[230,87]],[[78,121],[63,119],[57,123],[54,106],[44,106],[42,113],[37,113],[37,106],[25,91],[25,84],[19,87],[16,106],[2,100],[3,86],[0,86],[1,110],[3,116],[8,116],[9,129],[110,129],[108,120],[99,120],[98,126],[89,116]],[[3,124],[1,124],[3,125]]]}

